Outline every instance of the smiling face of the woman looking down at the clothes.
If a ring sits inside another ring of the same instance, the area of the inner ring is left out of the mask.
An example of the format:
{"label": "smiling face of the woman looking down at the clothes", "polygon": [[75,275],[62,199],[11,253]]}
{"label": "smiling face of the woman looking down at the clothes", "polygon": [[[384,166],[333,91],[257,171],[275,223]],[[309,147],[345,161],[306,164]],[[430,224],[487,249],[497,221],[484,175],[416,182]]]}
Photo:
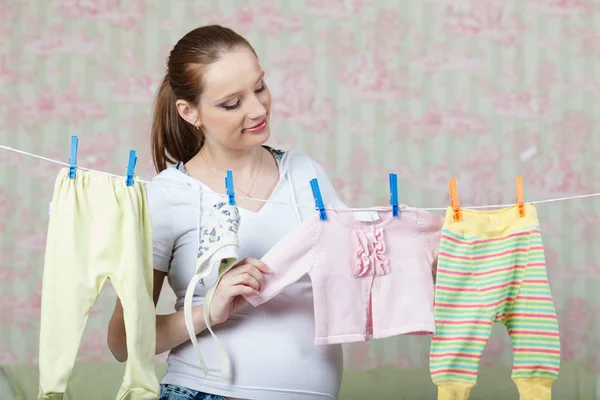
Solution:
{"label": "smiling face of the woman looking down at the clothes", "polygon": [[270,136],[271,94],[256,55],[238,47],[204,69],[198,122],[207,143],[247,149]]}

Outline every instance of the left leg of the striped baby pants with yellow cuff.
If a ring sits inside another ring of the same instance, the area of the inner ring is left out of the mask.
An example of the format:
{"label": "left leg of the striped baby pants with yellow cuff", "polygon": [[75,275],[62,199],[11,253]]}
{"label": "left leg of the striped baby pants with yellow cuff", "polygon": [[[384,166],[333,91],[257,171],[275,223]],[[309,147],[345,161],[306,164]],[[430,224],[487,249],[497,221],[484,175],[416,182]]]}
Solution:
{"label": "left leg of the striped baby pants with yellow cuff", "polygon": [[435,291],[436,333],[430,372],[439,400],[466,400],[477,383],[492,320],[478,293],[472,244],[442,230]]}

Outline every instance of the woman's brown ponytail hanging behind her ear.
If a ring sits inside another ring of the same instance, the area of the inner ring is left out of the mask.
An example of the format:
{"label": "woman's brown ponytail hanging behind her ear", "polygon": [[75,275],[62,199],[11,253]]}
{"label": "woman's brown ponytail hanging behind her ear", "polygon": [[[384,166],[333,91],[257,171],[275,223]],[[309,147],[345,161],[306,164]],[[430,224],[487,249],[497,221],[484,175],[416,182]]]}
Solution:
{"label": "woman's brown ponytail hanging behind her ear", "polygon": [[165,170],[167,163],[188,162],[204,144],[202,130],[181,118],[176,101],[165,76],[156,96],[151,128],[152,159],[157,173]]}

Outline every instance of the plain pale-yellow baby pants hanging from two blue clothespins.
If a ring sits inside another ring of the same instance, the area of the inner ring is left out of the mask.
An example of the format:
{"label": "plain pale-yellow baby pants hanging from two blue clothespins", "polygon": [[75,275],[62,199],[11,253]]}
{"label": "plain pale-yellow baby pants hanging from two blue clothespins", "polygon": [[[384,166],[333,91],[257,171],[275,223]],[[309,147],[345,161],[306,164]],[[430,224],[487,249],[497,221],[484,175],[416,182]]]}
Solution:
{"label": "plain pale-yellow baby pants hanging from two blue clothespins", "polygon": [[127,332],[128,360],[116,399],[158,399],[145,187],[100,172],[78,170],[69,179],[64,168],[54,186],[46,242],[39,399],[63,398],[88,313],[107,279],[123,304]]}

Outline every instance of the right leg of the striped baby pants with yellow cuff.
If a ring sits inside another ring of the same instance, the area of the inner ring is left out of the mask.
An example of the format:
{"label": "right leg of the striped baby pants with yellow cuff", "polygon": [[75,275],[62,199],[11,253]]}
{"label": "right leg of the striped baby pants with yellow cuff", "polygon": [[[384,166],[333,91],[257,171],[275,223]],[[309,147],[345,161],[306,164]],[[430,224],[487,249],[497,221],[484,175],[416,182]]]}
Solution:
{"label": "right leg of the striped baby pants with yellow cuff", "polygon": [[513,342],[512,378],[521,400],[549,400],[560,369],[560,338],[539,228],[525,250],[523,281],[504,321]]}

